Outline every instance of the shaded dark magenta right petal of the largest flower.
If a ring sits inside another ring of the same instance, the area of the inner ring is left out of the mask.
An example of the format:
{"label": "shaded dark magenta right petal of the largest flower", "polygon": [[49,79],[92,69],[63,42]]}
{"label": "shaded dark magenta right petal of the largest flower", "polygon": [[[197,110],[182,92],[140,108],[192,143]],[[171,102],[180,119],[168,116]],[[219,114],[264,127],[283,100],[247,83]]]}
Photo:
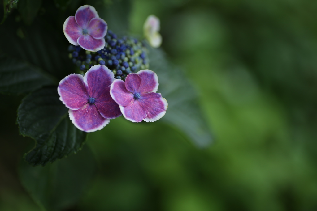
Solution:
{"label": "shaded dark magenta right petal of the largest flower", "polygon": [[119,105],[110,96],[110,86],[105,88],[102,95],[96,98],[95,105],[104,118],[114,119],[121,115]]}

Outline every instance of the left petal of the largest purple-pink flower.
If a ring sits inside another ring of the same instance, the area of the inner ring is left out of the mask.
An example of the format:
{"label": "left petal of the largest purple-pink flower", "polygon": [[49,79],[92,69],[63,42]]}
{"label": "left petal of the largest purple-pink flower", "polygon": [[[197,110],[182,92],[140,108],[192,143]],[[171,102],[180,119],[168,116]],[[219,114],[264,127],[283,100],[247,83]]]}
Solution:
{"label": "left petal of the largest purple-pink flower", "polygon": [[78,110],[88,102],[87,85],[81,74],[70,74],[60,81],[57,92],[67,108]]}

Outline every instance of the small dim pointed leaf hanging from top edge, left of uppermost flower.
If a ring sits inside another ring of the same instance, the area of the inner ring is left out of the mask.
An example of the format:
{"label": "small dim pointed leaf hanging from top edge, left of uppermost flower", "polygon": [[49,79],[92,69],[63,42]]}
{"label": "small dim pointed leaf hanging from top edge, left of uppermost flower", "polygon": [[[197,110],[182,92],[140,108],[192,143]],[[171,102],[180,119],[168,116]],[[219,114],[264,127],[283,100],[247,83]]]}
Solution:
{"label": "small dim pointed leaf hanging from top edge, left of uppermost flower", "polygon": [[20,0],[18,10],[25,24],[30,25],[41,8],[42,0]]}

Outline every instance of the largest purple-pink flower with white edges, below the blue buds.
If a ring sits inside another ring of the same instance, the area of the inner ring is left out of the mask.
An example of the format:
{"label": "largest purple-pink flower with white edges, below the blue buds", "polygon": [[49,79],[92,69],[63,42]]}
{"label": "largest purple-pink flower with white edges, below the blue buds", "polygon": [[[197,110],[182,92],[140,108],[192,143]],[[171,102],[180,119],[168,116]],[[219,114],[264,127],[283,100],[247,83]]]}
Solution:
{"label": "largest purple-pink flower with white edges, below the blue buds", "polygon": [[113,72],[106,66],[94,65],[85,76],[70,74],[60,81],[60,100],[69,108],[69,118],[78,129],[94,132],[121,115],[109,92],[114,80]]}

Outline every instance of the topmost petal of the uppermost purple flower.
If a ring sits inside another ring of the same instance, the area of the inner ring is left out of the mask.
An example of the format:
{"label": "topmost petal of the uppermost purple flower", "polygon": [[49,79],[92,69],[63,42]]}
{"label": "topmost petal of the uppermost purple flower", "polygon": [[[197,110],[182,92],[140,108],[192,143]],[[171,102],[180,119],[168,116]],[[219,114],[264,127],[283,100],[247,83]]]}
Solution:
{"label": "topmost petal of the uppermost purple flower", "polygon": [[96,9],[90,5],[84,5],[77,9],[75,20],[81,28],[87,29],[91,19],[99,18]]}

